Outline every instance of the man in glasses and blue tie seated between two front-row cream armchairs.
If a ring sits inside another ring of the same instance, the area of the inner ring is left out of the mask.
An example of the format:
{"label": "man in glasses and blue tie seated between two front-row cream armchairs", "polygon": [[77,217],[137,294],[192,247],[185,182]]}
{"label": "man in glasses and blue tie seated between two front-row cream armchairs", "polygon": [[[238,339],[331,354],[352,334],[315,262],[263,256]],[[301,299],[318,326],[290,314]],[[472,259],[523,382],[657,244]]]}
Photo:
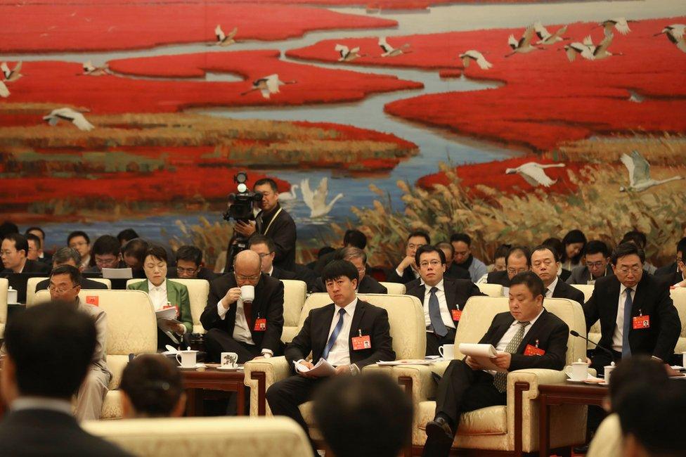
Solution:
{"label": "man in glasses and blue tie seated between two front-row cream armchairs", "polygon": [[424,245],[415,253],[420,279],[407,285],[407,295],[424,304],[427,326],[427,356],[439,355],[439,347],[452,345],[455,329],[465,303],[474,295],[484,295],[469,279],[445,278],[446,256],[438,247]]}

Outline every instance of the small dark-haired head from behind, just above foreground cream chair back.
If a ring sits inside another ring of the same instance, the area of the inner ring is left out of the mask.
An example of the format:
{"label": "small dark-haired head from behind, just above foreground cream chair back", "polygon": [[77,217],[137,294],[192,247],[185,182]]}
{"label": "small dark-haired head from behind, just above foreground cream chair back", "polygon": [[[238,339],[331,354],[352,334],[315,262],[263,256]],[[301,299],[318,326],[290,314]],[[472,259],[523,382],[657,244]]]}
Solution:
{"label": "small dark-haired head from behind, just above foreground cream chair back", "polygon": [[186,408],[181,371],[160,354],[141,354],[130,361],[119,390],[125,419],[178,418]]}

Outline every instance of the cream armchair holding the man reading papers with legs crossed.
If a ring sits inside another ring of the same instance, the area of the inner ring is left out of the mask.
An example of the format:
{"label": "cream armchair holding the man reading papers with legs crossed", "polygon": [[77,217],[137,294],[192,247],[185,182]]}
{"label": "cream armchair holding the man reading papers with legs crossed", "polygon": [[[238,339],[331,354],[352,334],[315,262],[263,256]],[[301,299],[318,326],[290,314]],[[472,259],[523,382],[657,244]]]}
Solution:
{"label": "cream armchair holding the man reading papers with legs crossed", "polygon": [[[567,323],[570,330],[585,335],[583,310],[578,303],[558,298],[546,298],[543,302],[548,311]],[[455,335],[455,359],[462,359],[458,349],[461,342],[478,342],[486,333],[496,314],[508,311],[505,297],[471,297],[465,305],[460,325]],[[567,363],[585,358],[585,342],[569,335]],[[396,366],[394,376],[411,394],[415,416],[413,418],[413,452],[421,452],[427,435],[425,425],[434,418],[436,409],[436,381],[432,372],[442,375],[448,361],[432,366]],[[519,455],[538,449],[538,385],[562,382],[562,371],[524,369],[512,371],[507,376],[507,405],[490,406],[463,413],[453,446],[460,449],[479,449],[489,453]],[[585,439],[586,406],[562,405],[552,409],[550,415],[553,448],[583,443]]]}

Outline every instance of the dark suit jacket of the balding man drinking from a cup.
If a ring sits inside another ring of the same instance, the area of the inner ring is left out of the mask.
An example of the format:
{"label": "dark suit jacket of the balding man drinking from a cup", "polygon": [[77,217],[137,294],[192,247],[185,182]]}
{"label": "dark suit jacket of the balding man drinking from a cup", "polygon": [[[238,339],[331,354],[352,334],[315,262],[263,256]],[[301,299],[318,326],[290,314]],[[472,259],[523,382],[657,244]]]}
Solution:
{"label": "dark suit jacket of the balding man drinking from a cup", "polygon": [[[207,307],[200,315],[200,323],[205,330],[219,328],[224,330],[229,336],[233,337],[235,327],[235,313],[238,309],[236,302],[228,307],[228,312],[224,316],[224,321],[219,318],[216,312],[216,304],[224,298],[226,292],[237,287],[233,273],[219,276],[209,283],[209,296],[207,297]],[[260,349],[271,349],[274,354],[280,352],[281,332],[283,331],[283,283],[275,278],[261,275],[259,282],[255,286],[255,300],[252,302],[252,318],[266,318],[267,326],[264,332],[250,329],[252,341]]]}

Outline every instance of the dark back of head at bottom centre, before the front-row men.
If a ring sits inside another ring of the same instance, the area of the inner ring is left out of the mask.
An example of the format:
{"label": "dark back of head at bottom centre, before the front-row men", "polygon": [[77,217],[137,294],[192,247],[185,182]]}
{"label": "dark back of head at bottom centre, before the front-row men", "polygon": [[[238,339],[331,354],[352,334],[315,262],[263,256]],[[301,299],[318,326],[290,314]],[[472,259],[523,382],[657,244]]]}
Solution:
{"label": "dark back of head at bottom centre, before the front-row men", "polygon": [[412,402],[380,373],[332,379],[314,395],[313,413],[327,456],[397,457],[412,433]]}

